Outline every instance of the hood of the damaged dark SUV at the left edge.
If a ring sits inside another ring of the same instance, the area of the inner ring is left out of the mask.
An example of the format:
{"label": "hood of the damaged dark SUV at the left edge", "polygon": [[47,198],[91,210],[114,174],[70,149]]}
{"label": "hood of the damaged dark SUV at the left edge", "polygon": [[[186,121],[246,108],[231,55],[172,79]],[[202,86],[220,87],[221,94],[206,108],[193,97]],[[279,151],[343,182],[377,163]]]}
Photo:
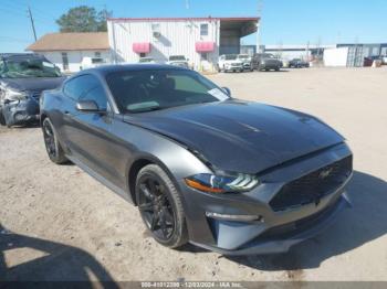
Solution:
{"label": "hood of the damaged dark SUV at the left edge", "polygon": [[59,87],[65,77],[2,78],[0,83],[17,90],[42,92]]}

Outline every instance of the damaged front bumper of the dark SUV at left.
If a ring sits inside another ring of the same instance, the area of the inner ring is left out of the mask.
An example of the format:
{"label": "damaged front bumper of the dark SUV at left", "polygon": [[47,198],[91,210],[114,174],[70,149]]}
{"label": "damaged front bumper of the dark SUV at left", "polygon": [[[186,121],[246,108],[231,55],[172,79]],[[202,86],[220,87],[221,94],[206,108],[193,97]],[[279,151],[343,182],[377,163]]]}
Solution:
{"label": "damaged front bumper of the dark SUV at left", "polygon": [[6,103],[1,106],[7,126],[23,125],[39,120],[39,103],[33,97]]}

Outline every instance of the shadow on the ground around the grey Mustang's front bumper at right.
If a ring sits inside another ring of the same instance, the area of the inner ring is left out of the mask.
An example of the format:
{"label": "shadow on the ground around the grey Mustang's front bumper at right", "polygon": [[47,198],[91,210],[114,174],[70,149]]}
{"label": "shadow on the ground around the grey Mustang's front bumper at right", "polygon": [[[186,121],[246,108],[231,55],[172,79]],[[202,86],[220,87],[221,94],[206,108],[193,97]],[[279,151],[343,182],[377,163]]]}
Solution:
{"label": "shadow on the ground around the grey Mustang's front bumper at right", "polygon": [[353,207],[312,239],[297,244],[289,253],[268,256],[227,257],[259,270],[301,270],[320,265],[355,249],[387,233],[387,183],[373,175],[354,172],[347,192]]}

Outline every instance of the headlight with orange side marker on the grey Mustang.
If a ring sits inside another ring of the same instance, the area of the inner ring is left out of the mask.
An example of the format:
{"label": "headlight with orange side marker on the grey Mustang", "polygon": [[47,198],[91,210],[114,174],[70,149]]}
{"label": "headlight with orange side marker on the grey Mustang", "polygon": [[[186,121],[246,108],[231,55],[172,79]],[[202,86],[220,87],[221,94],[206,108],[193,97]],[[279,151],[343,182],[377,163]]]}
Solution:
{"label": "headlight with orange side marker on the grey Mustang", "polygon": [[255,175],[215,175],[199,173],[185,179],[188,186],[209,193],[245,192],[259,184]]}

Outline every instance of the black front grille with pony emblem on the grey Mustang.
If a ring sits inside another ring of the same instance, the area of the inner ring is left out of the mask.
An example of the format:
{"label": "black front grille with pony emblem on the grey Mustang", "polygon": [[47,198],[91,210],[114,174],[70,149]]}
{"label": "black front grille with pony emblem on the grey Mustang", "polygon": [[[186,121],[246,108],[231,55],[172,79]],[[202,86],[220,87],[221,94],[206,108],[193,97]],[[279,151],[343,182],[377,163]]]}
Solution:
{"label": "black front grille with pony emblem on the grey Mustang", "polygon": [[352,156],[331,163],[285,184],[270,201],[273,211],[318,203],[321,197],[332,193],[352,172]]}

